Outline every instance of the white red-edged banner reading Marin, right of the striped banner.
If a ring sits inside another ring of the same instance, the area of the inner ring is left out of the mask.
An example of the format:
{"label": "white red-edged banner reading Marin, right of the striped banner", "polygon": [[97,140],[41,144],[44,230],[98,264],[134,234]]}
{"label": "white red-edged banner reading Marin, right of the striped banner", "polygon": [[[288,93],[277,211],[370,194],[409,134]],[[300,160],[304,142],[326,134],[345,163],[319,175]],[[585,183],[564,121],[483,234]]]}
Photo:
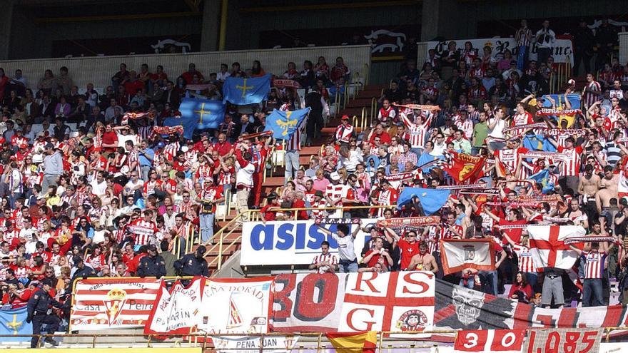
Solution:
{"label": "white red-edged banner reading Marin, right of the striped banner", "polygon": [[162,282],[144,333],[189,333],[198,324],[196,317],[203,305],[205,282],[205,277],[195,277],[187,287],[176,282],[170,290]]}

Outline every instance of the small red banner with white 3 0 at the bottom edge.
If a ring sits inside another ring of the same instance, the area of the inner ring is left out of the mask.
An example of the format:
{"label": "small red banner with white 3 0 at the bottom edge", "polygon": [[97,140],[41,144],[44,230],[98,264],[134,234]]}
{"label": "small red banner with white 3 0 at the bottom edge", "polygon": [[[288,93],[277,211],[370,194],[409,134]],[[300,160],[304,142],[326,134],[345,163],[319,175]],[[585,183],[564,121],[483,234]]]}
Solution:
{"label": "small red banner with white 3 0 at the bottom edge", "polygon": [[521,352],[525,329],[460,331],[454,352]]}

